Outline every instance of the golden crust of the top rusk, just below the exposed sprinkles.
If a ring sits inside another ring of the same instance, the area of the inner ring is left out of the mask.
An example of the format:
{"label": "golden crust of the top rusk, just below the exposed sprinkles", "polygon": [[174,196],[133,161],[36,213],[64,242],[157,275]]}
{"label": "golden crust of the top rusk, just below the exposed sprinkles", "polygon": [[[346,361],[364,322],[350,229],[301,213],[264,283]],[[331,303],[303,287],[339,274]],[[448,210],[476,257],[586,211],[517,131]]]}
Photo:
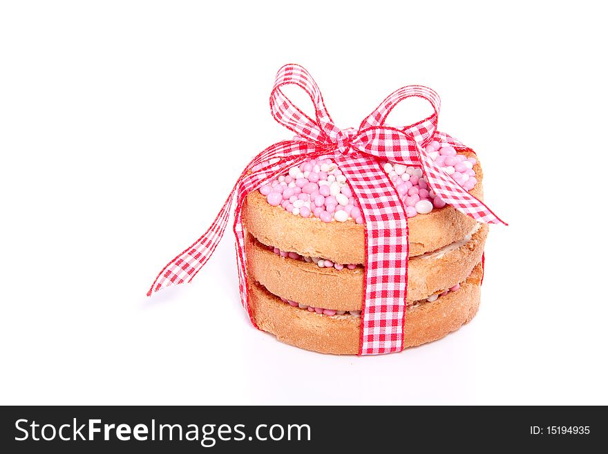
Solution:
{"label": "golden crust of the top rusk, just below the exposed sprinkles", "polygon": [[[473,153],[464,153],[473,156]],[[483,199],[482,168],[475,164],[477,185],[473,196]],[[354,220],[323,223],[319,218],[294,216],[283,207],[272,207],[258,191],[243,205],[243,224],[260,243],[303,256],[323,257],[336,263],[365,262],[365,229]],[[475,220],[446,205],[408,219],[410,257],[435,251],[463,238]]]}

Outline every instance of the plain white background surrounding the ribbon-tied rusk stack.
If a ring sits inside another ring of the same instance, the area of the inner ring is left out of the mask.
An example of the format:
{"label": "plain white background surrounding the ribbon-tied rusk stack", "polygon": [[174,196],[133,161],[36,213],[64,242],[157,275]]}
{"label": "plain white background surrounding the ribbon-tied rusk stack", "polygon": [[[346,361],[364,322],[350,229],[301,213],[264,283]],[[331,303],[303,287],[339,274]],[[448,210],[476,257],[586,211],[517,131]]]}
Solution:
{"label": "plain white background surrounding the ribbon-tied rusk stack", "polygon": [[[1,3],[0,404],[608,404],[600,2],[457,3]],[[145,297],[291,137],[268,108],[288,62],[342,128],[439,92],[510,224],[470,325],[381,357],[285,346],[247,322],[231,232]]]}

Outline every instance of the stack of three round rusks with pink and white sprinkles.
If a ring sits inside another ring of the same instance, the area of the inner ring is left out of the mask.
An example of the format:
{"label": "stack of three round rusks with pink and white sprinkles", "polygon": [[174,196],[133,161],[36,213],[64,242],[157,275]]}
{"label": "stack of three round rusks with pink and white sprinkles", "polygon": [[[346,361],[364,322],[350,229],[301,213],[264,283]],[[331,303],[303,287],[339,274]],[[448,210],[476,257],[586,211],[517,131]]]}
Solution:
{"label": "stack of three round rusks with pink and white sprinkles", "polygon": [[[435,162],[483,200],[477,156],[434,146]],[[440,200],[421,169],[379,165],[408,216],[404,335],[406,347],[418,346],[457,330],[477,313],[488,226]],[[365,223],[336,164],[309,160],[249,193],[243,225],[251,312],[258,328],[307,350],[357,354]]]}

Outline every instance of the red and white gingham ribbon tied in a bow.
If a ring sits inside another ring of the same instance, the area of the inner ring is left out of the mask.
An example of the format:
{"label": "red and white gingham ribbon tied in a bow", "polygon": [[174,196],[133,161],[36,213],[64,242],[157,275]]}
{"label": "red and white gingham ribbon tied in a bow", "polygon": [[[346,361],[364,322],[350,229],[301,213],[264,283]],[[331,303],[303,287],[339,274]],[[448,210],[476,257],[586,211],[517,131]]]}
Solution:
{"label": "red and white gingham ribbon tied in a bow", "polygon": [[[281,91],[285,85],[302,88],[312,100],[313,120]],[[411,126],[385,126],[386,117],[399,102],[421,97],[433,115]],[[243,307],[251,316],[247,287],[245,232],[241,207],[247,194],[307,159],[331,158],[348,178],[365,220],[365,300],[361,311],[359,354],[403,350],[403,323],[408,285],[408,220],[395,186],[383,171],[384,160],[421,167],[433,191],[446,203],[483,223],[503,223],[483,202],[471,196],[435,164],[425,151],[432,140],[456,149],[464,144],[437,131],[439,96],[424,86],[399,88],[361,122],[358,130],[339,129],[325,108],[319,87],[302,66],[288,64],[276,75],[270,95],[274,119],[296,134],[256,155],[238,178],[213,224],[196,242],[173,258],[158,274],[148,295],[164,287],[190,282],[209,260],[222,238],[236,196],[234,234]]]}

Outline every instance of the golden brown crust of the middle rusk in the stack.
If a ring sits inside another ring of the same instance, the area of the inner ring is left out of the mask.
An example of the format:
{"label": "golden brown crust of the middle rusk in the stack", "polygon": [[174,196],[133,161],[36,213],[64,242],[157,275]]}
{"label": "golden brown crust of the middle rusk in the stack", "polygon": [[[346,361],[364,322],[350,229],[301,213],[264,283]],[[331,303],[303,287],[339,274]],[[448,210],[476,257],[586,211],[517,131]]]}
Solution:
{"label": "golden brown crust of the middle rusk in the stack", "polygon": [[[482,260],[487,234],[488,226],[480,225],[470,240],[455,243],[454,249],[410,258],[408,301],[426,299],[464,281]],[[250,235],[245,250],[250,278],[270,293],[314,307],[361,310],[363,267],[320,268],[315,263],[281,257]]]}

